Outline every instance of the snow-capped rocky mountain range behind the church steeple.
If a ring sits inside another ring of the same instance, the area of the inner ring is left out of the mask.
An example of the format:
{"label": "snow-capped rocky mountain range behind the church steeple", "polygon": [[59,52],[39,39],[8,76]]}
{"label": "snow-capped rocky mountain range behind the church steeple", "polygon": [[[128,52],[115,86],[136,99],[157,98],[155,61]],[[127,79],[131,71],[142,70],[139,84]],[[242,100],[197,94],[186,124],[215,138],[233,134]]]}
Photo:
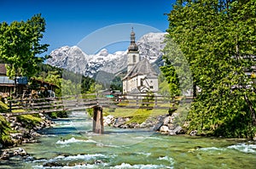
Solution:
{"label": "snow-capped rocky mountain range behind the church steeple", "polygon": [[[166,33],[148,33],[137,41],[141,58],[149,59],[154,63],[162,55],[165,47],[164,36]],[[127,47],[128,48],[128,47]],[[84,76],[95,76],[99,70],[117,74],[125,70],[128,50],[109,54],[107,49],[102,49],[97,54],[84,54],[77,46],[57,48],[50,53],[52,58],[47,64],[72,70]]]}

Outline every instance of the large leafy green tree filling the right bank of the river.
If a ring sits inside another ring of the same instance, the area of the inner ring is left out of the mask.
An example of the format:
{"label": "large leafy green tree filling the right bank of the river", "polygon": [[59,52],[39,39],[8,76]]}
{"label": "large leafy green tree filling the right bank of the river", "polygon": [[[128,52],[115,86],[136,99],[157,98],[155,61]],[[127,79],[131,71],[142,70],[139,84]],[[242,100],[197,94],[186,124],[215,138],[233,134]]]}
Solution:
{"label": "large leafy green tree filling the right bank of the river", "polygon": [[[252,72],[255,65],[255,14],[253,0],[177,1],[168,14],[172,41],[165,48],[167,65],[177,63],[179,54],[172,50],[175,42],[189,63],[194,89],[200,88],[189,112],[189,131],[253,136],[255,83],[246,72]],[[164,74],[177,84],[172,66],[168,69],[169,75]],[[175,71],[182,85],[183,78]]]}

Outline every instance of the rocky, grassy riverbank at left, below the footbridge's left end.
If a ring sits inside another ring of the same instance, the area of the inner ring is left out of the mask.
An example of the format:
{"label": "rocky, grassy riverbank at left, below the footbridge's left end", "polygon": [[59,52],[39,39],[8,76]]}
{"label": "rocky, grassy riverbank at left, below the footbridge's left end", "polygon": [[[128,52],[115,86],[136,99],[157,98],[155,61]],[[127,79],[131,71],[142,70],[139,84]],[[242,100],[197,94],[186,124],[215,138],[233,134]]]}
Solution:
{"label": "rocky, grassy riverbank at left, below the footbridge's left end", "polygon": [[20,144],[36,143],[40,134],[37,132],[45,127],[52,127],[53,121],[48,115],[18,115],[8,116],[1,115],[1,143],[0,143],[0,160],[8,160],[12,156],[26,156],[24,149],[9,149]]}

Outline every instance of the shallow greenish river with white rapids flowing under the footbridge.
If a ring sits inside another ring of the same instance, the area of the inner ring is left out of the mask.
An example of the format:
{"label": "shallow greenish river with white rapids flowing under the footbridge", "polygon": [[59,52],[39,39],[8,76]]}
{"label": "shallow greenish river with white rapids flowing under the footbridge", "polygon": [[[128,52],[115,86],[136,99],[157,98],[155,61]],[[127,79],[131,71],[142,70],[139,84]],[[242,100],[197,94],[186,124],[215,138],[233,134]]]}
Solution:
{"label": "shallow greenish river with white rapids flowing under the footbridge", "polygon": [[29,157],[1,161],[0,168],[256,168],[253,141],[112,127],[99,135],[84,112],[55,123],[37,144],[20,146]]}

